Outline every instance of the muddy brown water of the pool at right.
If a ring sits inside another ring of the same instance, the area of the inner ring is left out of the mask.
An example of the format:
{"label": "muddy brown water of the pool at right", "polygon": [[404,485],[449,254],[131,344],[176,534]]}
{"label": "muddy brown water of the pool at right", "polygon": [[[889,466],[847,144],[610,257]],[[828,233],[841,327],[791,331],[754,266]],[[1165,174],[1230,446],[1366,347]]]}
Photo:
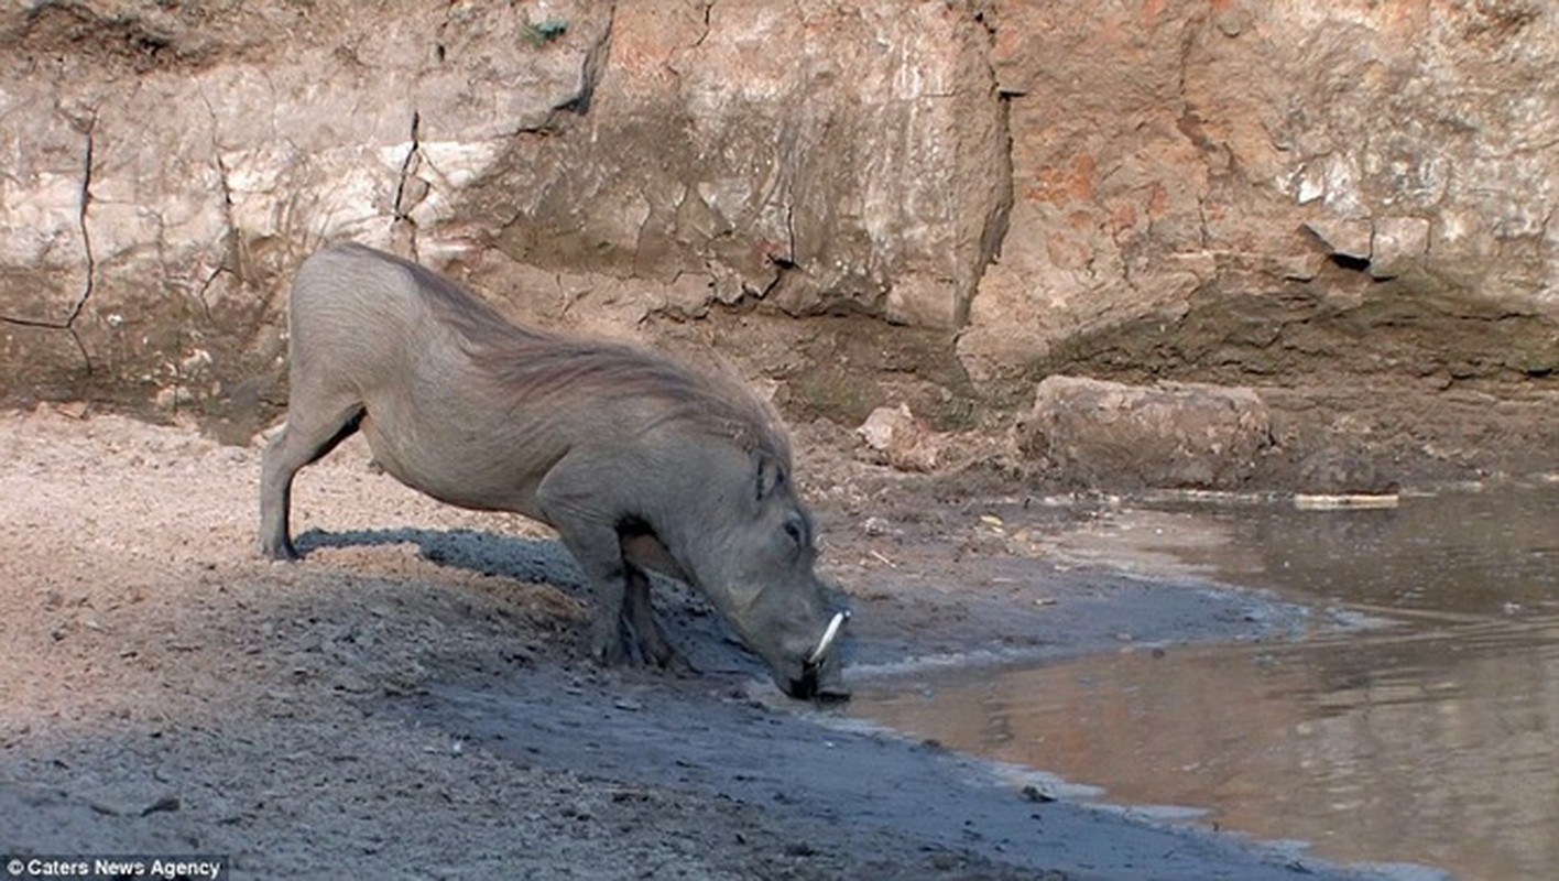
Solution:
{"label": "muddy brown water of the pool at right", "polygon": [[1196,572],[1380,624],[909,674],[853,711],[1339,862],[1559,876],[1559,486],[1104,510],[1040,543],[1062,564]]}

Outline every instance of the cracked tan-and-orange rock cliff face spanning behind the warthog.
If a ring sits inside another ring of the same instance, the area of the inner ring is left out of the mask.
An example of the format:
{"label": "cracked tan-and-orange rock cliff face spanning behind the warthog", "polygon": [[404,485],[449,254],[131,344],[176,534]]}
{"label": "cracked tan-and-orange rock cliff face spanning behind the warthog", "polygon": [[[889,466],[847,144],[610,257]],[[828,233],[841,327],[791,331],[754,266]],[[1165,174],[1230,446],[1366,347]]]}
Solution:
{"label": "cracked tan-and-orange rock cliff face spanning behind the warthog", "polygon": [[0,9],[5,399],[248,430],[338,239],[839,418],[1055,371],[1553,393],[1540,0],[218,6]]}

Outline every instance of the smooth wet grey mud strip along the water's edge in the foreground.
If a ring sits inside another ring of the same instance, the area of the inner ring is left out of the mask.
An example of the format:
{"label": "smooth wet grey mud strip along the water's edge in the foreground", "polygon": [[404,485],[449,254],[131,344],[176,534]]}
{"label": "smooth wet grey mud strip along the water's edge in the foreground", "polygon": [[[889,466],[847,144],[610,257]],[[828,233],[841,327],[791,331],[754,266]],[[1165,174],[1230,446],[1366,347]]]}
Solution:
{"label": "smooth wet grey mud strip along the water's edge in the foreground", "polygon": [[673,792],[675,801],[756,812],[784,830],[784,853],[820,876],[1345,876],[1228,836],[1043,801],[935,744],[853,733],[730,692],[519,685],[444,683],[393,711],[620,798]]}

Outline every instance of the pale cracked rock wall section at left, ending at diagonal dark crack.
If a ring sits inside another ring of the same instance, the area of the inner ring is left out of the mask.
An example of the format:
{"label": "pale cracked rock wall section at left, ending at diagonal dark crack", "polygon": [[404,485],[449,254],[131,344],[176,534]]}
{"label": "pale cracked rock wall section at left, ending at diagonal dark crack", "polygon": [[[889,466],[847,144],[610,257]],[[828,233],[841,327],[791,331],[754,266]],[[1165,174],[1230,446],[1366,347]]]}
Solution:
{"label": "pale cracked rock wall section at left, ending at diagonal dark crack", "polygon": [[296,264],[337,239],[415,251],[575,112],[610,12],[553,33],[508,5],[6,6],[0,393],[254,409]]}

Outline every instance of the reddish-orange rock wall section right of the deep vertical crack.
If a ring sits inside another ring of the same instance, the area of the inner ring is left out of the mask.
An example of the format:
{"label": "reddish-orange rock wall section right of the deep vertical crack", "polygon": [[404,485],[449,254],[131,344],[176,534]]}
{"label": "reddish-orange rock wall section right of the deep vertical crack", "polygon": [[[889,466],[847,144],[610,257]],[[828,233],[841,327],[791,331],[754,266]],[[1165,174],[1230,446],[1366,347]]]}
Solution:
{"label": "reddish-orange rock wall section right of the deep vertical crack", "polygon": [[993,9],[1016,198],[960,340],[976,373],[1553,370],[1550,5]]}

